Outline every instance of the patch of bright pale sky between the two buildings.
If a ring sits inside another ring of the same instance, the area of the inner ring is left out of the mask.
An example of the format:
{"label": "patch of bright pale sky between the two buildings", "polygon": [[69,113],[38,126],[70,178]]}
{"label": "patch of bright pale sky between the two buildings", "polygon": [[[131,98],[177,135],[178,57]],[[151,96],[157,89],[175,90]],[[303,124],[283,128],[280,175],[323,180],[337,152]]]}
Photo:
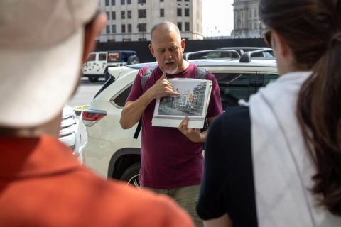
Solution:
{"label": "patch of bright pale sky between the two buildings", "polygon": [[205,36],[231,35],[233,0],[202,0],[202,33]]}

